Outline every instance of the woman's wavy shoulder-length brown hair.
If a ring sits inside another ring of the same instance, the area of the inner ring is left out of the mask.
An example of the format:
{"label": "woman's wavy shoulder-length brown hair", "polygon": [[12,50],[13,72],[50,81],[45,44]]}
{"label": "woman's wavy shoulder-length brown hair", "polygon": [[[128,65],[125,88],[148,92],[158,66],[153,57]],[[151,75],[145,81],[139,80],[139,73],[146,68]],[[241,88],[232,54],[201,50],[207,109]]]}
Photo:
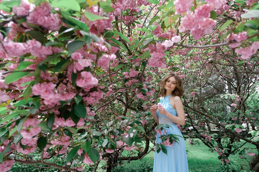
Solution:
{"label": "woman's wavy shoulder-length brown hair", "polygon": [[164,97],[166,95],[165,84],[166,84],[167,79],[170,77],[174,77],[176,80],[176,87],[175,87],[174,91],[172,92],[172,96],[181,97],[184,93],[184,90],[182,89],[182,79],[174,73],[170,73],[170,74],[166,75],[162,79],[162,81],[159,83],[161,96]]}

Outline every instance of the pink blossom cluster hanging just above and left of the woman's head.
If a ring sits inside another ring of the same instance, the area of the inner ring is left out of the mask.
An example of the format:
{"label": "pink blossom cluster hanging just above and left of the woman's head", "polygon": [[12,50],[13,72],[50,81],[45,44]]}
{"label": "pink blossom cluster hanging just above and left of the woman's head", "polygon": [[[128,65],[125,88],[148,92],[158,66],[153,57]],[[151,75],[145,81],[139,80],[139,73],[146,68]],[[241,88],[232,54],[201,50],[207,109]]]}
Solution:
{"label": "pink blossom cluster hanging just above and left of the woman's head", "polygon": [[157,43],[156,46],[154,44],[150,44],[148,46],[148,50],[151,54],[151,58],[148,59],[147,64],[151,67],[160,67],[164,68],[165,65],[165,49],[161,43]]}

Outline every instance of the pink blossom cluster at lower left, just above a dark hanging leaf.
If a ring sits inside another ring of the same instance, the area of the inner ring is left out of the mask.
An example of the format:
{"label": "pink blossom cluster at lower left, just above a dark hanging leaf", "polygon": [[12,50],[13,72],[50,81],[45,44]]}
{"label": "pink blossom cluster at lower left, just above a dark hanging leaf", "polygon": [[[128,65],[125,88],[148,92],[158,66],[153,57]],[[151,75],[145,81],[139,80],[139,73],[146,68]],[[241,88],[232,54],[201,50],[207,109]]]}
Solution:
{"label": "pink blossom cluster at lower left, just above a dark hanging leaf", "polygon": [[31,139],[33,136],[36,136],[41,132],[41,127],[37,127],[37,125],[41,122],[41,120],[35,118],[28,118],[24,124],[23,129],[20,131],[20,134],[23,138]]}

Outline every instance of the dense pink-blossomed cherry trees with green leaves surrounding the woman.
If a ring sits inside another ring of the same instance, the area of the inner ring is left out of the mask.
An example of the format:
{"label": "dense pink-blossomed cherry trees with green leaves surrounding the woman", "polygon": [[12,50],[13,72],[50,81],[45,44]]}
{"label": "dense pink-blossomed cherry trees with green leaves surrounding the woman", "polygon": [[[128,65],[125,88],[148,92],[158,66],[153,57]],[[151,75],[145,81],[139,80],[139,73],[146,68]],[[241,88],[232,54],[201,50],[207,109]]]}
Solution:
{"label": "dense pink-blossomed cherry trees with green leaves surrounding the woman", "polygon": [[[170,72],[184,80],[184,137],[200,138],[222,164],[233,153],[253,156],[250,168],[258,170],[259,108],[248,102],[258,91],[256,0],[5,0],[0,10],[3,171],[14,162],[96,171],[102,159],[111,171],[165,152],[178,138],[155,144],[163,125],[149,108]],[[230,142],[222,145],[224,135]],[[234,146],[240,138],[256,153]]]}

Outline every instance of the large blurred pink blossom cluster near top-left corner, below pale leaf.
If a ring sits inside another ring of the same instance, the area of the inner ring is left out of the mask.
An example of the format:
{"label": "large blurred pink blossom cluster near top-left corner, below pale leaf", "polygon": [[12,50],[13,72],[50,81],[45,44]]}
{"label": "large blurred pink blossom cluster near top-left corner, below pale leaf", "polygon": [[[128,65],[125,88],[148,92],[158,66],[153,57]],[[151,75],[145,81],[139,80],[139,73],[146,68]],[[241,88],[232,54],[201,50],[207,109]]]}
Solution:
{"label": "large blurred pink blossom cluster near top-left corner, below pale leaf", "polygon": [[26,17],[27,22],[37,24],[47,30],[59,30],[61,20],[58,13],[52,13],[52,8],[49,3],[41,3]]}

